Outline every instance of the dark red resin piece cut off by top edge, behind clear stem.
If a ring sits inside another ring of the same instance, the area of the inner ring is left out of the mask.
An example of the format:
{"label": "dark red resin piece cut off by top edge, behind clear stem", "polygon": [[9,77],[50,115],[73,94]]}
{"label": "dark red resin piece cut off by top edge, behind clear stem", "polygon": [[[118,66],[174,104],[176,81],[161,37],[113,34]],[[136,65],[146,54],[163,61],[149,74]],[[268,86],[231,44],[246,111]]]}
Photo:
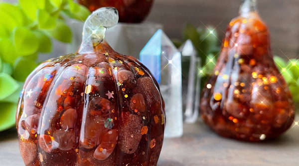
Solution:
{"label": "dark red resin piece cut off by top edge, behind clear stem", "polygon": [[120,22],[142,22],[149,14],[153,0],[78,0],[94,11],[100,7],[115,7],[119,11]]}

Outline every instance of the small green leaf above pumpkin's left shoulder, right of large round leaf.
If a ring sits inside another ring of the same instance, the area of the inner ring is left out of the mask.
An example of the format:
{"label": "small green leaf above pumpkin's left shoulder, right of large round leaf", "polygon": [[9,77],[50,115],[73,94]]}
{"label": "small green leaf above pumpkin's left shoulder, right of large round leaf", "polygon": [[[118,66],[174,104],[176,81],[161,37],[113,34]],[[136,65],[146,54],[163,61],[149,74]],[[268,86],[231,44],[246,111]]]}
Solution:
{"label": "small green leaf above pumpkin's left shoulder, right of large round leaf", "polygon": [[37,40],[39,42],[38,52],[51,52],[52,51],[52,41],[48,35],[41,31],[34,31],[33,32],[35,36],[37,37]]}

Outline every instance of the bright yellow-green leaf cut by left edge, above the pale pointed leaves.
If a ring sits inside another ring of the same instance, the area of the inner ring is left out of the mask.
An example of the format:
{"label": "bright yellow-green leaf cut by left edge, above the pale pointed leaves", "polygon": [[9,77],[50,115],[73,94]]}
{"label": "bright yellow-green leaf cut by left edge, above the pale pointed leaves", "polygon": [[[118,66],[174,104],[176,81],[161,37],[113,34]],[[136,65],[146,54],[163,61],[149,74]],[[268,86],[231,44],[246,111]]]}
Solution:
{"label": "bright yellow-green leaf cut by left edge, above the pale pointed leaves", "polygon": [[0,57],[3,62],[13,64],[18,57],[14,45],[9,39],[0,39]]}

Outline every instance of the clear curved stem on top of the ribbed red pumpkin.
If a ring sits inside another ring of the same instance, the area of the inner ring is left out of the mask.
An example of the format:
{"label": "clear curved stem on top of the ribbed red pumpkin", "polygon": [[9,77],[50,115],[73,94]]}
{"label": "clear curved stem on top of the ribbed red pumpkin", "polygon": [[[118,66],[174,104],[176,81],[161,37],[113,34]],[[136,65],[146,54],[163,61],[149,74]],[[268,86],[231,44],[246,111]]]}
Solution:
{"label": "clear curved stem on top of the ribbed red pumpkin", "polygon": [[94,46],[104,41],[106,30],[115,26],[118,20],[118,11],[114,7],[94,11],[84,23],[83,40],[78,53],[93,53]]}

